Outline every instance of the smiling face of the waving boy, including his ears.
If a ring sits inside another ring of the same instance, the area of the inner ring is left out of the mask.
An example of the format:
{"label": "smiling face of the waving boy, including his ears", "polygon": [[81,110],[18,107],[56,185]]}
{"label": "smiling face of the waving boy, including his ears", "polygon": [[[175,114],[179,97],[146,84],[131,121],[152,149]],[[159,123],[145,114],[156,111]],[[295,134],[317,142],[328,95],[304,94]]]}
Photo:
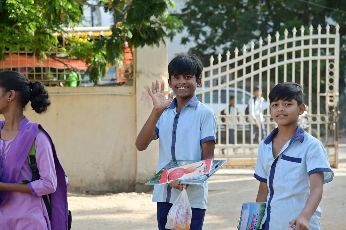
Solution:
{"label": "smiling face of the waving boy, including his ears", "polygon": [[172,80],[168,80],[170,88],[175,96],[180,99],[190,99],[193,97],[196,88],[200,86],[202,79],[196,81],[196,76],[191,74],[180,74],[172,76]]}

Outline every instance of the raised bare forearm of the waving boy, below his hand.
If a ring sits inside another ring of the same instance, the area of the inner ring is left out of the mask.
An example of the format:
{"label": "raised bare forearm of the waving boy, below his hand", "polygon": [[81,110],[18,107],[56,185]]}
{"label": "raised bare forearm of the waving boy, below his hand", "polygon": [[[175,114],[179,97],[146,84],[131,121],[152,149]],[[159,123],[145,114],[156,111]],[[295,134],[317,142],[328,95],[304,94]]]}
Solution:
{"label": "raised bare forearm of the waving boy, below his hand", "polygon": [[139,151],[145,150],[150,144],[150,142],[153,140],[155,126],[162,112],[153,109],[148,120],[145,122],[142,130],[140,130],[136,139],[136,148]]}

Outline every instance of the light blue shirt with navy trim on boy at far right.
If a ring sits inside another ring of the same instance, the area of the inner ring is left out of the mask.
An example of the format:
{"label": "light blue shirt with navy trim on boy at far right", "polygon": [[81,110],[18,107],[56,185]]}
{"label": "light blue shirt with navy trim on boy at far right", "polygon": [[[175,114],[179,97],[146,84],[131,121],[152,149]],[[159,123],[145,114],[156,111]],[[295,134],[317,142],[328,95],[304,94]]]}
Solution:
{"label": "light blue shirt with navy trim on boy at far right", "polygon": [[[324,183],[334,176],[322,143],[299,125],[274,159],[272,141],[278,131],[274,129],[260,143],[254,174],[257,180],[267,183],[269,191],[261,222],[264,229],[287,229],[289,222],[299,216],[310,194],[311,174],[324,172]],[[310,229],[322,229],[321,214],[318,207],[310,219]]]}

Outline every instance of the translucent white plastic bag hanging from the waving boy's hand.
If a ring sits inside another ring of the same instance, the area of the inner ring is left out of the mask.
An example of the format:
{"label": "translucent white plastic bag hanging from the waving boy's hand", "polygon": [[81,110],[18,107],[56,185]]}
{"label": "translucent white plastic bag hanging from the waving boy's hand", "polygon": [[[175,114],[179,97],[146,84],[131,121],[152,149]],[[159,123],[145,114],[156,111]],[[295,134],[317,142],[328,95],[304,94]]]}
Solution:
{"label": "translucent white plastic bag hanging from the waving boy's hand", "polygon": [[192,210],[188,193],[183,189],[167,214],[167,229],[189,230]]}

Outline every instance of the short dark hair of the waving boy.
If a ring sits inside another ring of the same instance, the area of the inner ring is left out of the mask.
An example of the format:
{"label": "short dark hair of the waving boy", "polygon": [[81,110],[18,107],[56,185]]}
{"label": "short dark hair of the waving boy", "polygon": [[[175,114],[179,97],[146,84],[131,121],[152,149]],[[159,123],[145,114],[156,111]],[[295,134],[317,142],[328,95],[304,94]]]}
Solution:
{"label": "short dark hair of the waving boy", "polygon": [[178,76],[181,74],[196,75],[196,81],[200,78],[203,70],[203,63],[199,57],[194,54],[180,54],[172,59],[168,64],[169,80],[172,80],[172,76]]}

